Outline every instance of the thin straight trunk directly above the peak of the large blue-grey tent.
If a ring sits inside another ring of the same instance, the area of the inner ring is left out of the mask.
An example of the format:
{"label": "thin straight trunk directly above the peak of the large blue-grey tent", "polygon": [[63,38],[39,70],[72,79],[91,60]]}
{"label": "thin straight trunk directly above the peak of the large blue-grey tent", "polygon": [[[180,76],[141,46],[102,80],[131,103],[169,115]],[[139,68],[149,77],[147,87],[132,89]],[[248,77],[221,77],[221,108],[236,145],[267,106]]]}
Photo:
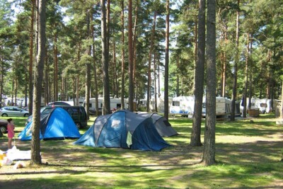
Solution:
{"label": "thin straight trunk directly above the peak of the large blue-grey tent", "polygon": [[122,23],[122,28],[121,28],[121,33],[122,33],[122,57],[121,57],[121,108],[125,109],[125,33],[124,33],[124,0],[121,2],[121,23]]}

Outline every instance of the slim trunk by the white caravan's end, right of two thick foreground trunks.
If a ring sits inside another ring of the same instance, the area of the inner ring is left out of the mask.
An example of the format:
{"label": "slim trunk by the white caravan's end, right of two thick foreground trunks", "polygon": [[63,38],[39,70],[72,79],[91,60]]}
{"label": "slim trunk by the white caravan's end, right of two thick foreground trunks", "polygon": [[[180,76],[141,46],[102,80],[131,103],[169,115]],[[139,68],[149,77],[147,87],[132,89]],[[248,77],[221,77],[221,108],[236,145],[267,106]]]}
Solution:
{"label": "slim trunk by the white caravan's end, right of two thick foreground trunks", "polygon": [[235,121],[235,112],[236,112],[236,98],[237,98],[237,80],[238,80],[238,62],[239,62],[239,17],[240,17],[240,0],[237,1],[237,16],[236,16],[236,55],[235,62],[233,65],[233,92],[232,92],[232,102],[231,102],[231,121]]}

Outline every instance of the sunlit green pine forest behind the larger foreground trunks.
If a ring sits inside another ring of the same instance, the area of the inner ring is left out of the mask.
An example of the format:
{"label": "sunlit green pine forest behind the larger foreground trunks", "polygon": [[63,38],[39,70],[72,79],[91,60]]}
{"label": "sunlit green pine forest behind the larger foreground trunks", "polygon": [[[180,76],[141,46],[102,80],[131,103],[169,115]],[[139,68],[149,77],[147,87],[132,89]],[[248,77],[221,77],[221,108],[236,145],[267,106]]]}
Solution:
{"label": "sunlit green pine forest behind the larger foreground trunks", "polygon": [[[170,1],[169,96],[189,96],[197,77],[198,1]],[[106,6],[110,96],[128,98],[127,1]],[[158,98],[166,72],[166,1],[132,2],[134,100]],[[99,1],[48,1],[45,103],[103,94]],[[236,45],[236,13],[239,40]],[[283,2],[216,1],[216,96],[279,98],[282,87]],[[0,0],[0,93],[33,96],[35,1]],[[123,84],[124,82],[124,84]],[[205,81],[204,81],[205,82]],[[88,87],[86,87],[88,86]],[[204,83],[204,91],[206,84]],[[88,89],[86,89],[88,88]],[[245,89],[247,89],[245,91]],[[86,91],[90,91],[90,94]],[[151,95],[149,95],[151,94]],[[0,96],[2,98],[2,96]],[[2,101],[2,99],[0,99]],[[27,103],[27,101],[25,101]],[[27,106],[25,104],[25,106]]]}

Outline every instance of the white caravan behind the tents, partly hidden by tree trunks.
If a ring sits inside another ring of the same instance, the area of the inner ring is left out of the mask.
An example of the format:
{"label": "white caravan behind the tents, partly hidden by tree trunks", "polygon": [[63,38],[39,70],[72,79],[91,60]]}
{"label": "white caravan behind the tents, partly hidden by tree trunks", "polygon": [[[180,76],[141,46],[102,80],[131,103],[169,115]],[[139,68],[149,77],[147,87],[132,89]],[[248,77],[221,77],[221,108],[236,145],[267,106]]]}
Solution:
{"label": "white caravan behind the tents, partly hidden by tree trunks", "polygon": [[[121,98],[110,98],[110,110],[118,110],[121,108]],[[125,105],[127,104],[127,99],[125,99]],[[83,101],[83,107],[86,108],[86,101]],[[102,112],[103,109],[103,98],[98,98],[98,111]],[[91,114],[96,113],[96,98],[89,98],[89,112]]]}

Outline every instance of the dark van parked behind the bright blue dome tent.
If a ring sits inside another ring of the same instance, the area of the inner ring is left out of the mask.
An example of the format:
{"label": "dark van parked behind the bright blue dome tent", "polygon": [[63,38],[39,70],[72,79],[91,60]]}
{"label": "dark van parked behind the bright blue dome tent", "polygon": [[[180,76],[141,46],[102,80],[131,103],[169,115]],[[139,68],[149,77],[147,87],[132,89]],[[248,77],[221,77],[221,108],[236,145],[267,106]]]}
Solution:
{"label": "dark van parked behind the bright blue dome tent", "polygon": [[[74,120],[76,127],[78,127],[78,129],[86,127],[88,125],[88,117],[86,115],[86,110],[83,108],[83,106],[81,105],[59,106],[57,105],[54,108],[63,108],[64,110],[66,110],[67,113],[69,113],[71,118]],[[45,106],[41,108],[40,114],[49,114],[52,112],[52,109],[53,109],[52,106]],[[30,122],[32,118],[33,116],[30,115],[30,117],[28,117],[26,124],[28,124],[28,122]]]}

